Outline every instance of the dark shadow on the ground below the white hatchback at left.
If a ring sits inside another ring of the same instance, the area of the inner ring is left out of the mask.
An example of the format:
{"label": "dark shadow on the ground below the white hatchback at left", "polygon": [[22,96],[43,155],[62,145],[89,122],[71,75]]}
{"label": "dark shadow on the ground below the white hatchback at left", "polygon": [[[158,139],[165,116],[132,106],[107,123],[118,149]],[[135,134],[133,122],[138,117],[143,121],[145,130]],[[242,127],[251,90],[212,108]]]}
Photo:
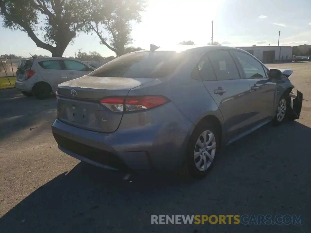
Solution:
{"label": "dark shadow on the ground below the white hatchback at left", "polygon": [[[0,140],[41,121],[56,118],[56,99],[38,100],[26,97],[16,89],[1,90]],[[50,114],[52,113],[52,114]],[[30,128],[31,129],[31,128]]]}

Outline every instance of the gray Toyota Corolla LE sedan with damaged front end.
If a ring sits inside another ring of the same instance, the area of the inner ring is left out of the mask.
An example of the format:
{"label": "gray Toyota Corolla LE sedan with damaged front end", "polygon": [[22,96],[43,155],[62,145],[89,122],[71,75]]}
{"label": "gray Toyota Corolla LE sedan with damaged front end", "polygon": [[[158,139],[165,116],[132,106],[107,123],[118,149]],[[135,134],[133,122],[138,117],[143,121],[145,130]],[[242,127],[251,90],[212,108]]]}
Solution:
{"label": "gray Toyota Corolla LE sedan with damaged front end", "polygon": [[60,150],[96,166],[200,178],[221,146],[299,118],[292,72],[238,48],[151,45],[60,84],[53,135]]}

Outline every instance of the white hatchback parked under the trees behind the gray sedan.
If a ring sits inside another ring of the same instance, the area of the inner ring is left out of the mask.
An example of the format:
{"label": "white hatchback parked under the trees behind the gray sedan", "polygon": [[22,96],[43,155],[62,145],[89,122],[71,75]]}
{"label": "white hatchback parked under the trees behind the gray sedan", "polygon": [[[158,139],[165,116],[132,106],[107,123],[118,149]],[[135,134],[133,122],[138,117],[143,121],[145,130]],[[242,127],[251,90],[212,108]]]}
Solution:
{"label": "white hatchback parked under the trees behind the gray sedan", "polygon": [[26,96],[49,98],[60,83],[87,75],[96,68],[66,57],[21,60],[16,71],[15,87]]}

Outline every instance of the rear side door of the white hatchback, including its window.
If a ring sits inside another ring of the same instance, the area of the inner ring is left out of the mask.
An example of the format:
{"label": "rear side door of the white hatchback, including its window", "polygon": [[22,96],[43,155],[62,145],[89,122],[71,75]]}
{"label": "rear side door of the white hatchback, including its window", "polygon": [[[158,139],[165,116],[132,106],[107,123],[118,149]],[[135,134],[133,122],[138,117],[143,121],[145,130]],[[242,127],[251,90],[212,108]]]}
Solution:
{"label": "rear side door of the white hatchback, including its window", "polygon": [[56,91],[58,84],[67,81],[67,71],[60,62],[61,60],[47,60],[38,62],[38,69],[42,79],[47,81],[53,92]]}

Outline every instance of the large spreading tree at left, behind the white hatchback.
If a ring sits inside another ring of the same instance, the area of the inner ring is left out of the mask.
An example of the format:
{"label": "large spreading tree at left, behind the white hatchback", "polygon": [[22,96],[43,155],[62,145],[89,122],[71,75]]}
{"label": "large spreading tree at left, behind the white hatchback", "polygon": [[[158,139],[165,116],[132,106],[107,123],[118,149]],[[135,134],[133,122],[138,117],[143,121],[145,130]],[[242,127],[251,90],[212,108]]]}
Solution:
{"label": "large spreading tree at left, behind the white hatchback", "polygon": [[[85,29],[86,4],[87,0],[0,0],[0,14],[3,27],[26,32],[37,47],[50,51],[52,57],[62,57],[77,33]],[[43,27],[38,26],[40,14]],[[37,37],[38,30],[44,41]]]}

